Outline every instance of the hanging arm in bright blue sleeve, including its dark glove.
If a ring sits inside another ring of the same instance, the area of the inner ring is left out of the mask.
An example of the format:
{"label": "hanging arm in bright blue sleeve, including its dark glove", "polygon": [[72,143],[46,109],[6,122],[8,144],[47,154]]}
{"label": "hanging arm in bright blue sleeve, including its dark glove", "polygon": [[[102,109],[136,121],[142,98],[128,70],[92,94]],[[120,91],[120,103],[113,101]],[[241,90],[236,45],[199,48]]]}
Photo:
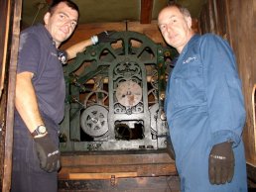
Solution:
{"label": "hanging arm in bright blue sleeve, including its dark glove", "polygon": [[209,109],[211,150],[208,177],[211,184],[231,182],[235,156],[232,147],[241,141],[245,110],[235,57],[229,45],[206,36],[201,51]]}

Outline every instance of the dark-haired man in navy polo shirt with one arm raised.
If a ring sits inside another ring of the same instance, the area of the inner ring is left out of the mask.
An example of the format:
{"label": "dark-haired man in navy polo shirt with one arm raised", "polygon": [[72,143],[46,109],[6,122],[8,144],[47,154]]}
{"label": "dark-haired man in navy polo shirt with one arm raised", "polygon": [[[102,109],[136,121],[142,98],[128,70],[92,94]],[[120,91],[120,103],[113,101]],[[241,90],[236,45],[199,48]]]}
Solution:
{"label": "dark-haired man in navy polo shirt with one arm raised", "polygon": [[[93,36],[59,54],[73,33],[78,7],[69,0],[54,1],[45,25],[21,33],[14,120],[13,192],[57,192],[61,167],[59,123],[64,118],[65,58],[97,43],[111,41],[107,32]],[[62,57],[62,61],[59,60]]]}

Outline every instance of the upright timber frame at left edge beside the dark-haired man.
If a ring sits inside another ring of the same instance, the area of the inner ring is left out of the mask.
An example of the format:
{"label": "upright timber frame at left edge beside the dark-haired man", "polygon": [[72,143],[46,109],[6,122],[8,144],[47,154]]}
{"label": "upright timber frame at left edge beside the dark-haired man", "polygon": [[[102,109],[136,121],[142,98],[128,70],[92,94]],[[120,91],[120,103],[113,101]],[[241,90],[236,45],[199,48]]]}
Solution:
{"label": "upright timber frame at left edge beside the dark-haired man", "polygon": [[[22,0],[3,0],[0,3],[0,189],[9,191],[11,186],[14,95],[16,66],[19,48]],[[2,54],[3,52],[3,54]]]}

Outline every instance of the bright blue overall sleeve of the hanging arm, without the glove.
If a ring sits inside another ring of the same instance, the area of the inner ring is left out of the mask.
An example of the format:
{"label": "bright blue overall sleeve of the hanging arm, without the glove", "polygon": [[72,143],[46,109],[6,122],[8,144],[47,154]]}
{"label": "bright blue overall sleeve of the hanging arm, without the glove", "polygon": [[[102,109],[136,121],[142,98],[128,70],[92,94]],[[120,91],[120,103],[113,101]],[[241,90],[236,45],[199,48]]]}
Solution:
{"label": "bright blue overall sleeve of the hanging arm, without the glove", "polygon": [[210,144],[239,144],[245,122],[241,81],[228,44],[216,36],[202,41],[201,59],[209,109]]}

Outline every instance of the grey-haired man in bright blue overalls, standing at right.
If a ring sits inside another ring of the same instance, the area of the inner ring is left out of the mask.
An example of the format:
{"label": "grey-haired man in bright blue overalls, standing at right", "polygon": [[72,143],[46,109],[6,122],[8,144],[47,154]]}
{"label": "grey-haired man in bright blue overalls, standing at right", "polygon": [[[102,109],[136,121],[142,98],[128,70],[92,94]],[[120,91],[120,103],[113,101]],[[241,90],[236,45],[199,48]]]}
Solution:
{"label": "grey-haired man in bright blue overalls, standing at right", "polygon": [[247,192],[241,138],[245,109],[233,51],[215,35],[195,35],[190,12],[174,3],[158,17],[180,53],[165,111],[183,192]]}

